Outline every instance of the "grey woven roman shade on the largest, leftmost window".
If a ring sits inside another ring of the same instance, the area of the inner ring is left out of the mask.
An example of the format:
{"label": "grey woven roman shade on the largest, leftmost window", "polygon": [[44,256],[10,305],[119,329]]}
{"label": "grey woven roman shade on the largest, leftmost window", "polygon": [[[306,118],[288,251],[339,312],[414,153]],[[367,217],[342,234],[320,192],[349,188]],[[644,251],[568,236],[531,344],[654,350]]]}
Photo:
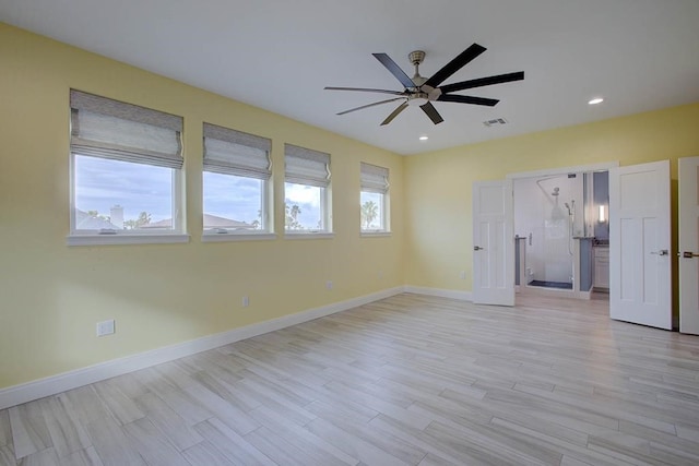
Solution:
{"label": "grey woven roman shade on the largest, leftmost window", "polygon": [[70,91],[71,151],[114,160],[182,167],[182,118]]}

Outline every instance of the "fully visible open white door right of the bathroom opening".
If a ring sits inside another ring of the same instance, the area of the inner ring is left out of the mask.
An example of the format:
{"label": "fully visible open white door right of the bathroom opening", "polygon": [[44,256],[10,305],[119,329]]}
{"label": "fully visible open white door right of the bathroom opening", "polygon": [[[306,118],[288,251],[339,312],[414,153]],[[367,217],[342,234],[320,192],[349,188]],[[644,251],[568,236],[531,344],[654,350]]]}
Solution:
{"label": "fully visible open white door right of the bathroom opening", "polygon": [[609,170],[609,316],[672,330],[670,160]]}

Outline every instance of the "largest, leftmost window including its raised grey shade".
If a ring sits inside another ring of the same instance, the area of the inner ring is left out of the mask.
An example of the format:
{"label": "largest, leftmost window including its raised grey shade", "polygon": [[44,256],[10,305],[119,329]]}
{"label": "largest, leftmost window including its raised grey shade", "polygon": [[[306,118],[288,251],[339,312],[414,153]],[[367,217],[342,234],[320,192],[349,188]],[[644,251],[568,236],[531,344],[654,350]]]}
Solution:
{"label": "largest, leftmost window including its raised grey shade", "polygon": [[71,89],[69,244],[187,241],[182,118]]}

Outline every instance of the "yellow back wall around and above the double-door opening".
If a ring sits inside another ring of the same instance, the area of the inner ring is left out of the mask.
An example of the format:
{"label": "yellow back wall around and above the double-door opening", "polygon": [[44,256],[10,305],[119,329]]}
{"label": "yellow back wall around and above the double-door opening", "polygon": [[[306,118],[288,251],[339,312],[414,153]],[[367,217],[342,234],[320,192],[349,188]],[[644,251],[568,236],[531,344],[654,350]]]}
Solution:
{"label": "yellow back wall around and above the double-door opening", "polygon": [[[472,289],[474,181],[605,162],[671,159],[676,219],[677,158],[696,155],[699,104],[407,157],[405,280],[422,287]],[[674,225],[674,241],[675,237]],[[465,280],[461,271],[466,272]]]}

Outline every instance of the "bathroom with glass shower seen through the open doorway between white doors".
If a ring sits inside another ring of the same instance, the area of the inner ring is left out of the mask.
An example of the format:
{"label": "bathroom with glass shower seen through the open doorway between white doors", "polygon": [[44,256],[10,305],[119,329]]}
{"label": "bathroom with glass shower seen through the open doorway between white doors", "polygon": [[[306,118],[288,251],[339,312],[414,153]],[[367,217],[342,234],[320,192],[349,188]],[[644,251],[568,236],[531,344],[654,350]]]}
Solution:
{"label": "bathroom with glass shower seen through the open doorway between white doors", "polygon": [[513,191],[518,292],[608,292],[608,172],[516,178]]}

